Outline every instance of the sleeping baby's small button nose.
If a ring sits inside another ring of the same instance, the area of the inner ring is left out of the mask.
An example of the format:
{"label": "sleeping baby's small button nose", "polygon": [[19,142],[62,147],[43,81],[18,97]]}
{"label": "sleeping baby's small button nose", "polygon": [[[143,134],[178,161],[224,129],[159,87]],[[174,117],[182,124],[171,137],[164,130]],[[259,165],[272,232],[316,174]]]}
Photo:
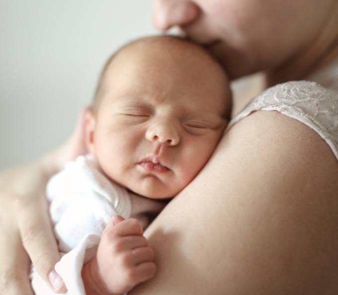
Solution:
{"label": "sleeping baby's small button nose", "polygon": [[177,128],[169,122],[155,122],[152,124],[146,132],[146,139],[150,142],[159,142],[171,147],[176,146],[180,141]]}

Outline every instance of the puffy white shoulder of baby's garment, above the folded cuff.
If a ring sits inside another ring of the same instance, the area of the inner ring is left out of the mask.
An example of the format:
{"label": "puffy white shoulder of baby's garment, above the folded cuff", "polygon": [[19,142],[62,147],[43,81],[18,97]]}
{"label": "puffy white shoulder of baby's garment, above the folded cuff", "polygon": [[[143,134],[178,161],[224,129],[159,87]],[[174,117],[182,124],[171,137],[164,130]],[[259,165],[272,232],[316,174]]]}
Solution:
{"label": "puffy white shoulder of baby's garment, above the folded cuff", "polygon": [[69,252],[88,234],[101,234],[113,215],[130,217],[125,188],[109,181],[88,156],[80,156],[47,185],[50,216],[60,252]]}

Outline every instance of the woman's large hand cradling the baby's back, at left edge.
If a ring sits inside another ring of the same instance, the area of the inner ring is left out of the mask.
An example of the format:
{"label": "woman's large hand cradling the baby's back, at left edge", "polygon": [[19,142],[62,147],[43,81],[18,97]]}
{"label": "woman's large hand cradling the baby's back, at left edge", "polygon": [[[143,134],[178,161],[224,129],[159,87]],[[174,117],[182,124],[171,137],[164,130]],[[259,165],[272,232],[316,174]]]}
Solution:
{"label": "woman's large hand cradling the baby's back, at left edge", "polygon": [[48,215],[45,187],[66,161],[85,152],[86,112],[87,109],[81,112],[75,132],[63,146],[30,165],[0,174],[0,294],[33,294],[28,278],[29,258],[55,292],[66,291],[54,271],[60,255]]}

